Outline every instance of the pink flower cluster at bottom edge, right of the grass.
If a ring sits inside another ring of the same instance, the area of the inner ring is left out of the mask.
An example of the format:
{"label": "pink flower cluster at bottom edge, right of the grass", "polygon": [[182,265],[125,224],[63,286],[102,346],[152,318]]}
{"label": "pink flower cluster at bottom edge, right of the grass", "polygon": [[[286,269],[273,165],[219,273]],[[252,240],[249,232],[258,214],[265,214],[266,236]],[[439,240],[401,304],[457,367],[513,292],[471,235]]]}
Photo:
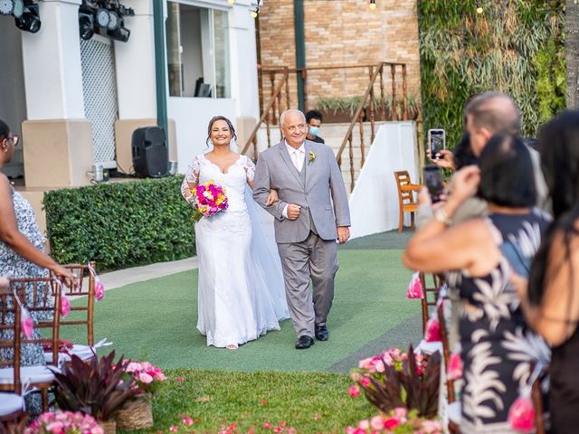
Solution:
{"label": "pink flower cluster at bottom edge, right of the grass", "polygon": [[370,420],[360,420],[356,427],[347,427],[346,434],[442,434],[440,420],[421,419],[415,411],[398,407],[388,414],[379,414]]}

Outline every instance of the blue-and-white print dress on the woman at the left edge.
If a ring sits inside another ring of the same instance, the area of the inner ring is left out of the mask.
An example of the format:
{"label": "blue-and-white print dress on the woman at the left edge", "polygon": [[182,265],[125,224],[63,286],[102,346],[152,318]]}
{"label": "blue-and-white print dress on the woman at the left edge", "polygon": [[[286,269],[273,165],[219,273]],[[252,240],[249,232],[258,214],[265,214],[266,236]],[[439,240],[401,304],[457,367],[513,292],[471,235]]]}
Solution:
{"label": "blue-and-white print dress on the woman at the left edge", "polygon": [[[18,231],[20,231],[28,241],[32,242],[38,250],[43,250],[45,238],[43,232],[36,224],[34,210],[30,203],[22,194],[12,192],[12,202],[14,205],[14,214]],[[5,278],[45,278],[48,276],[48,270],[38,267],[32,262],[24,259],[14,250],[10,249],[3,241],[0,241],[0,276]],[[31,306],[33,303],[32,294],[26,294],[26,300],[21,300],[25,305]],[[47,320],[46,313],[33,312],[33,320]],[[42,317],[39,317],[42,316]],[[34,337],[40,337],[34,330]],[[4,337],[4,336],[3,336]],[[12,336],[9,336],[11,338]],[[6,360],[12,358],[12,349],[0,349],[0,359]],[[43,347],[40,344],[25,344],[21,352],[21,364],[23,366],[32,366],[44,364]],[[33,395],[38,395],[34,393]],[[42,402],[40,396],[26,397],[26,410],[33,413],[42,412]]]}

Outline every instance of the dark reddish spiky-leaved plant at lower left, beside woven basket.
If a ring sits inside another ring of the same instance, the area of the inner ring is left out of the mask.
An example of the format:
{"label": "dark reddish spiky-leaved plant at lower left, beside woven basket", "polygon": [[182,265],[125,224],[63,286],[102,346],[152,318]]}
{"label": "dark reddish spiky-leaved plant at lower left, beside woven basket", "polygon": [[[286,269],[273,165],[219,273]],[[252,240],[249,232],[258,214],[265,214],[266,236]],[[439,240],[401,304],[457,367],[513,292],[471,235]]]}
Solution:
{"label": "dark reddish spiky-leaved plant at lower left, beside woven basket", "polygon": [[71,355],[62,373],[54,371],[56,403],[62,410],[82,411],[98,420],[105,433],[116,431],[115,413],[138,393],[135,380],[125,377],[128,363],[115,352],[82,361]]}

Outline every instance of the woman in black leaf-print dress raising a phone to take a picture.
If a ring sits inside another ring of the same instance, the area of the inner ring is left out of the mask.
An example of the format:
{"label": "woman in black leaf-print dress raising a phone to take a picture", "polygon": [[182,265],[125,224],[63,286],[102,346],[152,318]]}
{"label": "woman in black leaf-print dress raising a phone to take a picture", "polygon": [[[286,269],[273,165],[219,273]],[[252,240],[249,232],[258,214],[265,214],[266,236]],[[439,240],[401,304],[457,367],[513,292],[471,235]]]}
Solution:
{"label": "woman in black leaf-print dress raising a phone to take a picture", "polygon": [[[532,333],[510,283],[513,265],[528,267],[549,218],[534,210],[536,188],[527,147],[517,137],[496,136],[452,178],[449,200],[416,233],[404,263],[425,272],[452,273],[462,301],[460,345],[464,363],[461,394],[465,433],[510,433],[508,410],[527,383],[530,362],[548,363],[549,349]],[[457,207],[479,191],[489,217],[447,229]],[[519,260],[504,255],[510,245]],[[521,272],[521,271],[519,271]]]}

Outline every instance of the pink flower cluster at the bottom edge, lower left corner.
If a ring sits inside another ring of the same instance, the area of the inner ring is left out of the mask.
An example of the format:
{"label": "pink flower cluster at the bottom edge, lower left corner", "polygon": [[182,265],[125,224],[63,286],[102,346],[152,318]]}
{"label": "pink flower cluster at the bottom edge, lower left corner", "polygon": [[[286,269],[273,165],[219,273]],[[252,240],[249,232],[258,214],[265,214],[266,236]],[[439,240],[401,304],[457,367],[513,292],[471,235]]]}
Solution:
{"label": "pink flower cluster at the bottom edge, lower left corner", "polygon": [[24,434],[104,434],[104,430],[89,414],[81,411],[48,411],[40,415]]}

